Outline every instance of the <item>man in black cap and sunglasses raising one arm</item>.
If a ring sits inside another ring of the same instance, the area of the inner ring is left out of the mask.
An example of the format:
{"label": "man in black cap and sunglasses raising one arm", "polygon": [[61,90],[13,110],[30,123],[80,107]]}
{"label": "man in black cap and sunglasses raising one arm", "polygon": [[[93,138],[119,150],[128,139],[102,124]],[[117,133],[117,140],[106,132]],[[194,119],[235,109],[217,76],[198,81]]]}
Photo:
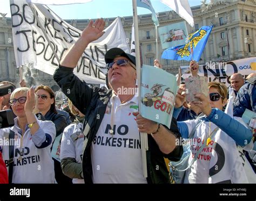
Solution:
{"label": "man in black cap and sunglasses raising one arm", "polygon": [[[174,119],[169,130],[140,116],[139,98],[120,90],[136,89],[135,57],[120,48],[106,52],[110,90],[90,88],[73,74],[73,68],[87,45],[104,34],[104,26],[103,19],[97,19],[95,23],[90,21],[53,75],[64,94],[85,114],[84,181],[169,183],[164,157],[174,161],[180,159],[183,149],[175,144],[180,134]],[[139,132],[151,134],[148,135],[149,150],[146,152],[147,178],[143,176]]]}

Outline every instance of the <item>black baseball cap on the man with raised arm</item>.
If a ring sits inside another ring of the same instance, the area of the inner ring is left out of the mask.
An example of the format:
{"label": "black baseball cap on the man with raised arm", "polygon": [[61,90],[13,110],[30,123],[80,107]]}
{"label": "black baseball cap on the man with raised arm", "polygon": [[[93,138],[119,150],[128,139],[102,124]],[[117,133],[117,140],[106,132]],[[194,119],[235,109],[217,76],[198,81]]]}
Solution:
{"label": "black baseball cap on the man with raised arm", "polygon": [[117,55],[124,56],[125,58],[129,59],[135,66],[136,66],[136,58],[135,56],[125,53],[123,49],[120,49],[118,47],[114,47],[109,49],[105,54],[105,62],[111,63],[114,58],[116,58]]}

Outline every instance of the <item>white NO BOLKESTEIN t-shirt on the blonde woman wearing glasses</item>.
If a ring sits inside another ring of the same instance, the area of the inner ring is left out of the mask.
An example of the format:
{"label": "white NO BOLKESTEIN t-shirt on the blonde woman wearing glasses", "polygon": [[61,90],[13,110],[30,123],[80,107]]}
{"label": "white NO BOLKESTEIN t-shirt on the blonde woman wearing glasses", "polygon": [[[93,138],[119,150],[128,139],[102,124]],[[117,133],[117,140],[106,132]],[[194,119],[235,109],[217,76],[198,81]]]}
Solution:
{"label": "white NO BOLKESTEIN t-shirt on the blonde woman wearing glasses", "polygon": [[[55,125],[52,121],[37,120],[38,125],[44,133],[51,136],[51,144],[45,148],[37,148],[32,141],[30,128],[23,134],[21,145],[22,130],[18,127],[17,117],[15,125],[10,128],[0,129],[0,138],[9,139],[10,130],[15,132],[16,142],[14,146],[14,170],[12,183],[54,183],[55,173],[53,160],[50,153],[52,142],[56,136]],[[3,159],[7,170],[9,160],[9,146],[3,146]]]}

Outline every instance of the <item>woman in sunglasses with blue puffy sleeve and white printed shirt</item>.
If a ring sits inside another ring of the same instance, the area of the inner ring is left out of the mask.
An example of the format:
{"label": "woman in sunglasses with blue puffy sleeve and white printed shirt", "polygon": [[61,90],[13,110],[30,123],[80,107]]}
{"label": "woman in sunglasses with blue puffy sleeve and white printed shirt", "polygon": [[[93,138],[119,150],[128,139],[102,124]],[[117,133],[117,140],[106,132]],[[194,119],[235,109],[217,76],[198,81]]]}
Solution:
{"label": "woman in sunglasses with blue puffy sleeve and white printed shirt", "polygon": [[[239,157],[233,156],[236,156],[237,145],[244,150],[252,149],[252,132],[241,118],[233,118],[223,112],[227,103],[226,85],[210,82],[208,88],[208,97],[197,94],[195,96],[199,100],[191,103],[192,106],[199,107],[205,116],[196,120],[178,121],[178,128],[184,139],[187,139],[193,128],[198,126],[190,141],[191,153],[188,164],[195,156],[197,159],[186,171],[184,183],[248,183],[245,175],[240,174],[240,178],[235,176],[239,168],[243,167],[238,167],[238,164],[242,164],[239,163]],[[215,128],[220,129],[219,133],[214,134]],[[204,142],[207,146],[198,155],[200,147],[204,147]],[[241,154],[242,152],[240,156]]]}

